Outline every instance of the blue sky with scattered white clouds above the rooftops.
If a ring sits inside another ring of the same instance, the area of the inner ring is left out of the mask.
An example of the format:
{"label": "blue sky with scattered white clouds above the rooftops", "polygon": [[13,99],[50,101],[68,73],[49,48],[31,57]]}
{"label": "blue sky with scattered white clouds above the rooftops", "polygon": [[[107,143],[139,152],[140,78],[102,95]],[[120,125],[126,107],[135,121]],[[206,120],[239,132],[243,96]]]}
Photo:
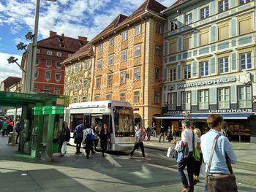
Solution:
{"label": "blue sky with scattered white clouds above the rooftops", "polygon": [[[21,77],[17,64],[8,64],[14,56],[20,64],[25,50],[18,50],[19,42],[28,45],[25,35],[34,32],[34,13],[37,0],[0,0],[0,82],[9,76]],[[37,40],[49,37],[49,31],[93,39],[119,14],[130,15],[145,0],[41,0]],[[176,0],[157,0],[170,7]]]}

